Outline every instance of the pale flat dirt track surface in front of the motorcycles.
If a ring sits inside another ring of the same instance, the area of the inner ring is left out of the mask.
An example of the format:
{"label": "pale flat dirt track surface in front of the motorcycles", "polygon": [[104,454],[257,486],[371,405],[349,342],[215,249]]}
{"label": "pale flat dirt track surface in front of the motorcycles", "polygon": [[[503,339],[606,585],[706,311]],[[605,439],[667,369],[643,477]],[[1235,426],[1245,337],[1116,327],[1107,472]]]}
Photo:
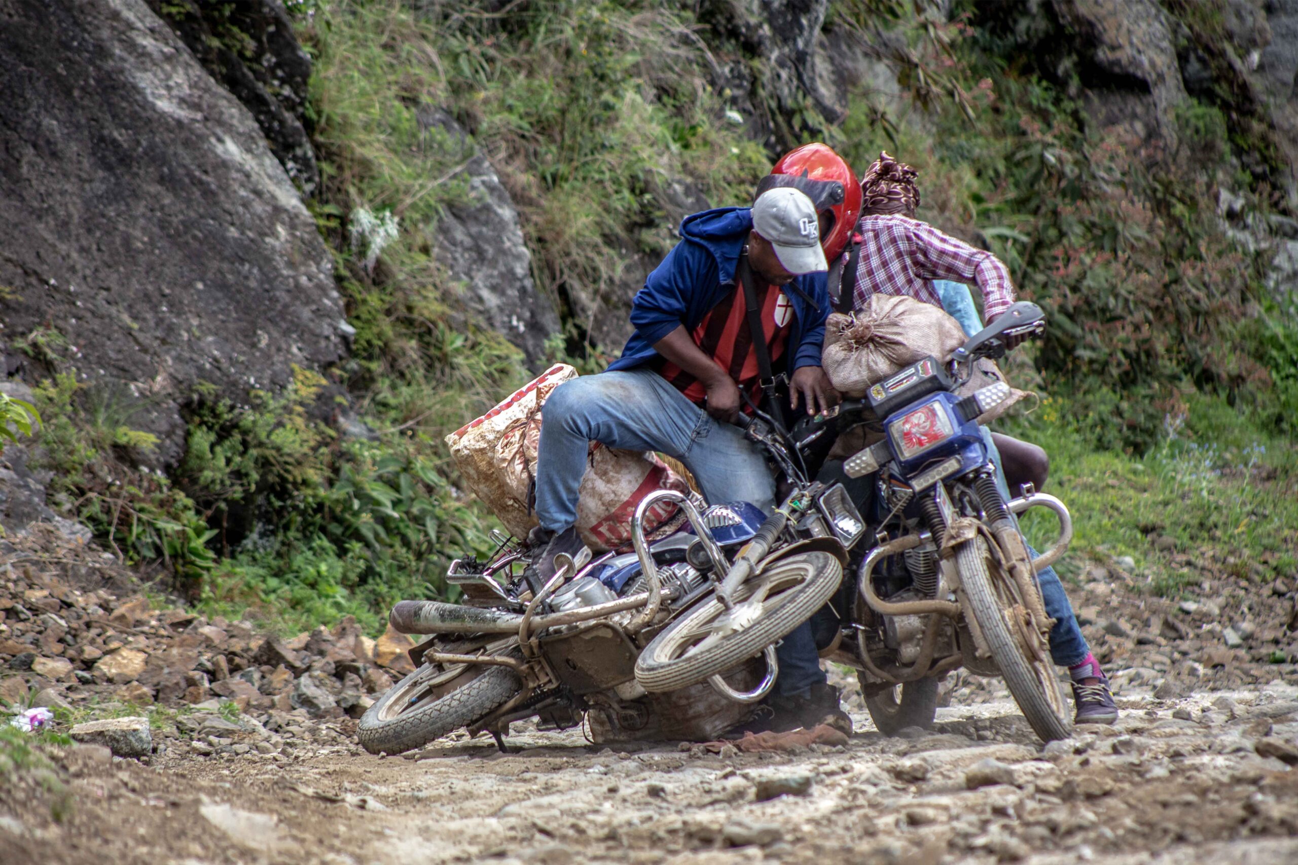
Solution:
{"label": "pale flat dirt track surface in front of the motorcycles", "polygon": [[517,725],[513,753],[461,737],[379,759],[326,726],[289,756],[73,750],[57,781],[0,792],[0,861],[1298,861],[1298,687],[1132,693],[1116,726],[1046,748],[989,696],[905,738],[854,713],[848,747],[781,755]]}

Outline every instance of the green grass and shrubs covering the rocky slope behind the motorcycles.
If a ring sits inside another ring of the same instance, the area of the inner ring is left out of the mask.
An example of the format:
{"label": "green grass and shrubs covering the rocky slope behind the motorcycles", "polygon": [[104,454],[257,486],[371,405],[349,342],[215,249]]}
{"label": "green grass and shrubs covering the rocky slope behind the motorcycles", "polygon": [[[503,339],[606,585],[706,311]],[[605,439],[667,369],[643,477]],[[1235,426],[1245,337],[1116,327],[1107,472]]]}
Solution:
{"label": "green grass and shrubs covering the rocky slope behind the motorcycles", "polygon": [[[472,153],[513,195],[539,289],[563,314],[553,359],[583,372],[619,349],[592,345],[591,303],[624,290],[628,252],[674,243],[663,188],[683,179],[715,205],[742,202],[778,154],[727,119],[711,84],[719,62],[758,60],[691,4],[288,6],[315,61],[322,189],[309,206],[352,357],[247,405],[195,394],[166,479],[140,468],[156,442],[132,424],[139,398],[79,383],[57,331],[14,345],[58,371],[36,398],[47,467],[58,503],[108,547],[165,565],[208,612],[251,608],[286,630],[352,613],[373,630],[392,600],[444,594],[450,556],[489,551],[495,523],[456,489],[441,438],[528,377],[434,252]],[[948,23],[923,3],[833,4],[826,27],[888,45],[909,97],[857,93],[836,124],[807,104],[776,135],[819,128],[858,169],[885,147],[914,163],[920,215],[985,240],[1046,307],[1049,398],[1010,427],[1051,451],[1081,554],[1131,555],[1160,591],[1203,568],[1292,568],[1298,311],[1216,215],[1220,191],[1273,206],[1266,171],[1238,158],[1262,139],[1224,101],[1181,106],[1172,152],[1094,130],[1079,82],[1051,80],[1019,36],[966,6]],[[1169,8],[1203,44],[1224,39],[1211,9]]]}

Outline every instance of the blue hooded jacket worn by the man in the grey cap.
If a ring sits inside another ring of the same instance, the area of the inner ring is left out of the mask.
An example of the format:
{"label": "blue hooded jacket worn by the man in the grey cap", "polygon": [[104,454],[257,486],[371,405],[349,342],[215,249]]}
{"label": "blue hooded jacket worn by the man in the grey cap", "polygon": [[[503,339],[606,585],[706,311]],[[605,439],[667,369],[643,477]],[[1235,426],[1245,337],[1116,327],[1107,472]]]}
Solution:
{"label": "blue hooded jacket worn by the man in the grey cap", "polygon": [[[636,292],[631,303],[636,332],[609,368],[631,370],[658,358],[654,344],[681,324],[692,333],[704,316],[735,290],[735,268],[752,228],[749,207],[718,207],[685,217],[680,223],[680,243]],[[785,351],[789,371],[820,366],[824,320],[829,315],[826,275],[797,276],[780,290],[793,310]]]}

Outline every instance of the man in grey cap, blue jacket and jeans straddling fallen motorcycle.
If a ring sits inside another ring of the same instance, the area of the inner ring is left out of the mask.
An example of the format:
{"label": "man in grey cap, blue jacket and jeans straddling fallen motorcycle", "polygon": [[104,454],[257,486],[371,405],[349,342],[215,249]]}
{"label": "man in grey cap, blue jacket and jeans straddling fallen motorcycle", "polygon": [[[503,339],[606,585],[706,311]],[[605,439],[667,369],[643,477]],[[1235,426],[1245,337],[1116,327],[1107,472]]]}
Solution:
{"label": "man in grey cap, blue jacket and jeans straddling fallen motorcycle", "polygon": [[[855,211],[845,215],[850,227]],[[776,490],[766,458],[729,421],[745,402],[774,397],[776,370],[789,373],[790,409],[814,414],[837,405],[820,368],[829,297],[813,200],[797,188],[766,189],[752,209],[687,217],[680,237],[636,293],[635,333],[622,357],[605,372],[559,385],[545,402],[536,467],[540,527],[530,538],[544,549],[530,568],[533,585],[554,575],[556,556],[582,550],[574,523],[589,442],[661,451],[693,473],[709,502],[745,501],[770,512]],[[753,324],[762,331],[765,359],[754,351]],[[785,637],[778,655],[772,703],[790,716],[784,726],[837,711],[809,624]]]}

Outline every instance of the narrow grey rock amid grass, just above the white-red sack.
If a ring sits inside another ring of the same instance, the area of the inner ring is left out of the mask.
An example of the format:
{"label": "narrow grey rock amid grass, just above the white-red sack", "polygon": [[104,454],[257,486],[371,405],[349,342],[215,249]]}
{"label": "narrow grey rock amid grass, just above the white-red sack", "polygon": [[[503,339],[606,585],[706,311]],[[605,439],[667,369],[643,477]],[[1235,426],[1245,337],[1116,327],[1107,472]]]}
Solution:
{"label": "narrow grey rock amid grass, just above the white-red sack", "polygon": [[437,222],[437,262],[456,283],[465,306],[522,349],[535,367],[544,358],[546,337],[559,329],[559,316],[532,281],[532,257],[514,201],[491,162],[472,152],[449,114],[424,109],[418,117],[424,128],[440,127],[453,145],[472,153],[456,175],[469,193]]}

